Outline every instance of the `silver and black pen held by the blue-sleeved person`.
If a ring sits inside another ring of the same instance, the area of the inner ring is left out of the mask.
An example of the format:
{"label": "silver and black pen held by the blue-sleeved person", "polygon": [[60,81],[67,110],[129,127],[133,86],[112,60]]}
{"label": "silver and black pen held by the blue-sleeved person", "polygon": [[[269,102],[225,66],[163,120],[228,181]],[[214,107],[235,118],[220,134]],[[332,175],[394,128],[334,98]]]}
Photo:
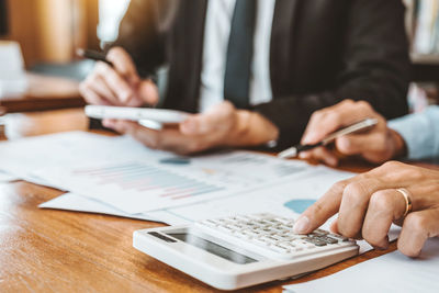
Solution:
{"label": "silver and black pen held by the blue-sleeved person", "polygon": [[314,144],[314,145],[295,145],[291,148],[288,148],[281,153],[278,154],[279,158],[282,159],[286,159],[286,158],[295,158],[299,156],[299,154],[301,151],[306,151],[306,150],[311,150],[314,149],[316,147],[319,146],[326,146],[330,143],[333,143],[336,138],[344,136],[344,135],[348,135],[348,134],[352,134],[352,133],[357,133],[360,131],[365,131],[369,129],[371,127],[373,127],[374,125],[376,125],[378,120],[376,119],[365,119],[363,121],[360,121],[356,124],[352,124],[346,128],[342,128],[338,132],[335,132],[333,134],[330,134],[328,137],[326,137],[325,139],[323,139],[322,142]]}

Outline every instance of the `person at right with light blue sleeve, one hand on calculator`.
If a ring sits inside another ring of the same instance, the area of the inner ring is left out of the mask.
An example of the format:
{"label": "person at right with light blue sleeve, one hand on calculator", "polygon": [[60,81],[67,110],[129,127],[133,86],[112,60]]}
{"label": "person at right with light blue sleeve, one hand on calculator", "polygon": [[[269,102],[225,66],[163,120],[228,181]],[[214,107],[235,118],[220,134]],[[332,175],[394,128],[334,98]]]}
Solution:
{"label": "person at right with light blue sleeve, one hand on calculator", "polygon": [[[359,155],[372,162],[395,158],[439,158],[439,106],[424,113],[386,121],[367,102],[344,101],[316,112],[302,143],[318,142],[335,129],[365,117],[379,120],[368,133],[336,139],[345,155]],[[303,154],[336,165],[337,156],[319,148]],[[376,248],[387,248],[392,223],[402,225],[397,248],[419,256],[425,241],[439,236],[439,171],[391,161],[333,185],[297,219],[294,230],[307,234],[338,213],[331,229],[363,238]]]}

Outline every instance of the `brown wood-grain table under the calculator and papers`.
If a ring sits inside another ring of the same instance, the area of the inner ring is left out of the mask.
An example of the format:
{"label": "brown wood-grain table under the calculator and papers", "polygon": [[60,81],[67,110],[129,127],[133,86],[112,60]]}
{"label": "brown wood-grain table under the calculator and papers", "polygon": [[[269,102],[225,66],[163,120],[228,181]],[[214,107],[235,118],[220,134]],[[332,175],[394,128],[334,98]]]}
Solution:
{"label": "brown wood-grain table under the calculator and papers", "polygon": [[[14,132],[21,133],[13,137],[87,127],[81,110],[22,117],[26,121],[23,125],[32,125],[32,131],[16,127]],[[66,117],[71,123],[66,124]],[[357,162],[345,166],[354,171],[369,168]],[[37,209],[59,194],[58,190],[23,181],[0,184],[0,292],[216,292],[133,248],[134,230],[160,224]],[[395,244],[385,251],[373,250],[295,281],[241,292],[281,292],[284,284],[329,275],[393,250]]]}

